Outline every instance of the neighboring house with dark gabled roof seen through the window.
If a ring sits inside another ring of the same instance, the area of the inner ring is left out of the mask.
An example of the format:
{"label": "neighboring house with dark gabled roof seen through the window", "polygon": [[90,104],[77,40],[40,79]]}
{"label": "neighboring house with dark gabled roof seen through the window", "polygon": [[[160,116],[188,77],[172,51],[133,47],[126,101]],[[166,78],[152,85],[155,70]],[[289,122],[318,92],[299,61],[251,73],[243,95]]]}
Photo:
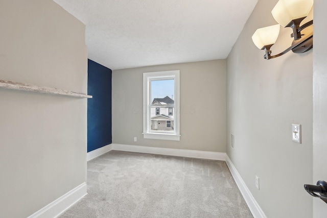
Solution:
{"label": "neighboring house with dark gabled roof seen through the window", "polygon": [[153,99],[151,105],[151,130],[174,130],[174,100],[166,96]]}

